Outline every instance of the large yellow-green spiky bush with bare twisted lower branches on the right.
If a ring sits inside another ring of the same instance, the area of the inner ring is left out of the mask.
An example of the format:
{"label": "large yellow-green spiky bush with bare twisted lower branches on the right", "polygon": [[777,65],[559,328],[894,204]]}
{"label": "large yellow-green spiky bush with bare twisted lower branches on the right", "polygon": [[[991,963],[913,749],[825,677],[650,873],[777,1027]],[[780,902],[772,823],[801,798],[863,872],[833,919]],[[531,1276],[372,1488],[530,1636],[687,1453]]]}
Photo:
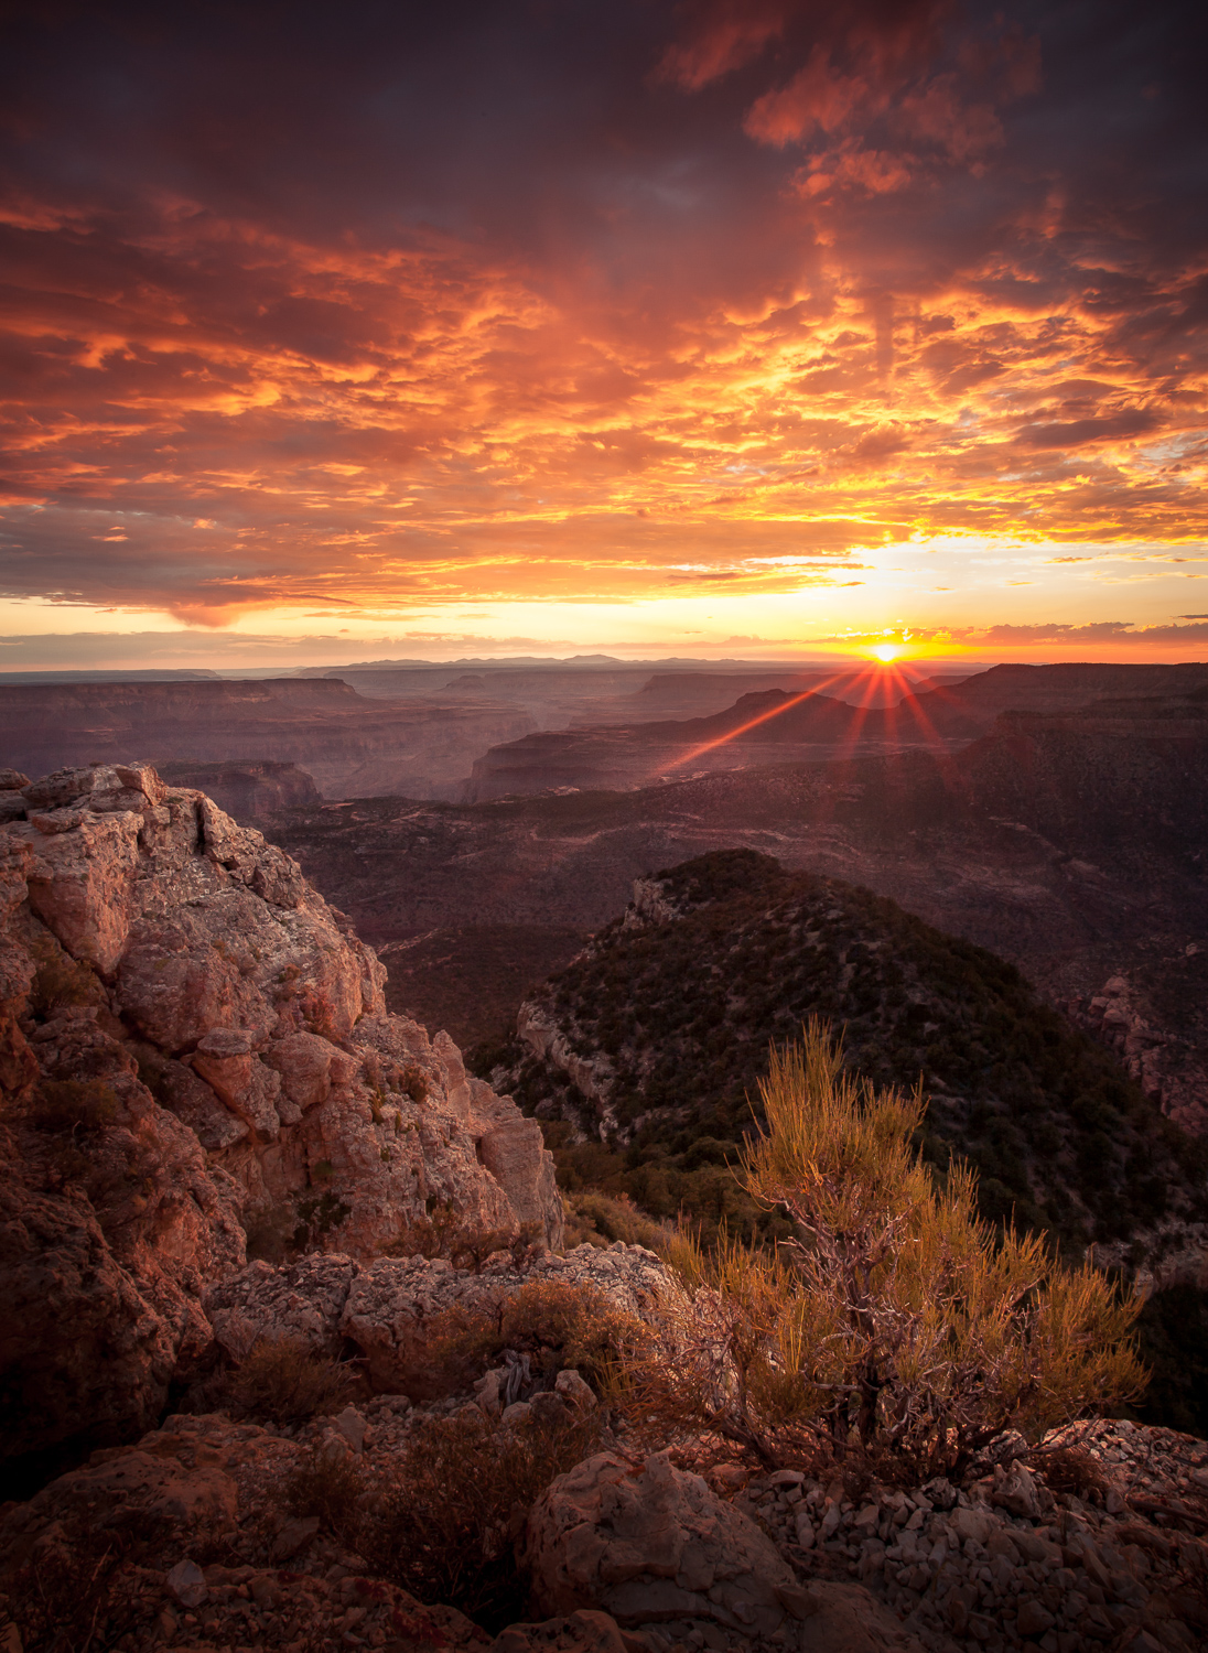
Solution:
{"label": "large yellow-green spiky bush with bare twisted lower branches on the right", "polygon": [[679,1413],[775,1458],[780,1428],[839,1455],[955,1470],[1013,1427],[1039,1431],[1140,1392],[1140,1312],[1097,1270],[977,1215],[972,1170],[939,1184],[912,1146],[920,1093],[841,1069],[825,1027],[772,1051],[750,1195],[795,1235],[775,1253],[722,1240],[671,1253],[692,1314],[641,1370],[648,1412]]}

